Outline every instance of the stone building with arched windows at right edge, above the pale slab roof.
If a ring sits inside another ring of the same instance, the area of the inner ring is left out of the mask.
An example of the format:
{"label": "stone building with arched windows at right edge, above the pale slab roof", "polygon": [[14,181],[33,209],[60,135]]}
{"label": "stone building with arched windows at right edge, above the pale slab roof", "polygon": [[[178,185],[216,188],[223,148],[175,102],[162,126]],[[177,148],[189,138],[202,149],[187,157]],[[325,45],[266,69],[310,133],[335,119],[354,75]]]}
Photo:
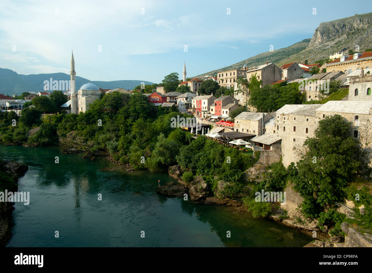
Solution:
{"label": "stone building with arched windows at right edge, above the pale slab roof", "polygon": [[365,74],[364,70],[361,70],[360,77],[350,78],[349,85],[349,101],[365,101],[372,100],[371,95],[372,89],[372,74]]}

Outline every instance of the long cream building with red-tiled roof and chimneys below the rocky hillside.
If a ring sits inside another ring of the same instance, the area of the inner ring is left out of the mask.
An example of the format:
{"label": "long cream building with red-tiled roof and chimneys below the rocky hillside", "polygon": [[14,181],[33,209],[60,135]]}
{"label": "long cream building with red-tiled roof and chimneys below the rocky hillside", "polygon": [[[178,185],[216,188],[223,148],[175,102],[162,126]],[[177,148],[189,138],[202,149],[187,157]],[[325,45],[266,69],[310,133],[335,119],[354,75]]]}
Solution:
{"label": "long cream building with red-tiled roof and chimneys below the rocky hillside", "polygon": [[372,51],[341,56],[325,65],[327,72],[342,71],[349,74],[355,70],[372,68]]}

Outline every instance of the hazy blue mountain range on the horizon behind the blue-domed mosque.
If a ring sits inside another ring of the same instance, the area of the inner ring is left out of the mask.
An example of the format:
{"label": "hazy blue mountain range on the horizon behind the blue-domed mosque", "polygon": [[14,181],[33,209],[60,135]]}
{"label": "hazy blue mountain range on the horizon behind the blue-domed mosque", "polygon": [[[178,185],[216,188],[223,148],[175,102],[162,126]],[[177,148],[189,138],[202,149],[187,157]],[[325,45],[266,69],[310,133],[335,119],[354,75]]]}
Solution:
{"label": "hazy blue mountain range on the horizon behind the blue-domed mosque", "polygon": [[[31,75],[22,75],[17,74],[16,72],[10,69],[0,68],[0,94],[9,94],[12,95],[13,91],[15,95],[20,95],[22,92],[34,91],[40,92],[44,90],[44,81],[50,81],[52,78],[53,81],[69,81],[70,75],[65,73],[52,73],[52,74],[31,74]],[[81,87],[81,85],[89,82],[88,79],[82,77],[75,77],[76,89]],[[124,88],[126,90],[132,90],[137,85],[140,85],[141,82],[145,84],[154,84],[149,81],[137,81],[137,80],[122,80],[122,81],[90,81],[93,82],[100,88],[103,89],[115,89],[115,88]]]}

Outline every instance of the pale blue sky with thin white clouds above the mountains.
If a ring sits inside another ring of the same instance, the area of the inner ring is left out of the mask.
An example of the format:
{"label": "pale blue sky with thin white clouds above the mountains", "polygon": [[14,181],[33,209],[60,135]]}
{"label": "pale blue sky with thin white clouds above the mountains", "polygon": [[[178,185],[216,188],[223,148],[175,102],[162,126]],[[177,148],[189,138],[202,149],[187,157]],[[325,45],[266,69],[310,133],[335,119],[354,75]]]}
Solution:
{"label": "pale blue sky with thin white clouds above the mountains", "polygon": [[[372,1],[0,1],[0,68],[70,71],[91,81],[159,83],[203,74],[311,38]],[[315,14],[314,14],[315,13]]]}

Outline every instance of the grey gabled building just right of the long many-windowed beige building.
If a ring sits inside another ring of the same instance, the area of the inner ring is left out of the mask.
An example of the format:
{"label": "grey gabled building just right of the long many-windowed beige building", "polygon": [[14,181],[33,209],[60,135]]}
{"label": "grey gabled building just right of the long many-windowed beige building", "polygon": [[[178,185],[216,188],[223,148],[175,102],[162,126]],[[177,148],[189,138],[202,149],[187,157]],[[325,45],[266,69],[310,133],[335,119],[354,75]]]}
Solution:
{"label": "grey gabled building just right of the long many-windowed beige building", "polygon": [[282,79],[282,69],[276,66],[273,63],[268,63],[260,66],[253,66],[248,68],[246,71],[247,80],[250,81],[250,78],[256,74],[257,79],[262,80],[262,86],[264,87],[267,84],[272,84],[275,81]]}

